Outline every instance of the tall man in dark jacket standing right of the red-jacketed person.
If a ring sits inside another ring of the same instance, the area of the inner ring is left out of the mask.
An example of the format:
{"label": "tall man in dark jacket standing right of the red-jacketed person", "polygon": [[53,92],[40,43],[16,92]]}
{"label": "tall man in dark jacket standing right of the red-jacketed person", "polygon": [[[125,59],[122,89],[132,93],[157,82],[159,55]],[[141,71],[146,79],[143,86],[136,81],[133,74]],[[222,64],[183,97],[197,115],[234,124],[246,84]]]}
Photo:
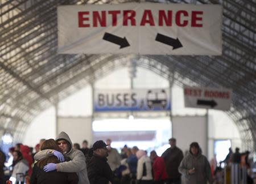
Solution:
{"label": "tall man in dark jacket standing right of the red-jacketed person", "polygon": [[176,139],[169,139],[170,148],[162,154],[164,162],[166,163],[166,171],[168,174],[167,184],[180,184],[181,174],[179,173],[179,165],[183,159],[183,152],[176,147]]}

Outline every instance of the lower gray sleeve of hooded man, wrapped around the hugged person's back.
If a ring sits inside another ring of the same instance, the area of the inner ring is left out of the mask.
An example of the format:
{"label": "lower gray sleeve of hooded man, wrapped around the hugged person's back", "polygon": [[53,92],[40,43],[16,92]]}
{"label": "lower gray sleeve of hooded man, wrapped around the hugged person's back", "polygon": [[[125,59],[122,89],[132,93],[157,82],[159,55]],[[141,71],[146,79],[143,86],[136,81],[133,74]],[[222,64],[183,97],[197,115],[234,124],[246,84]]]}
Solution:
{"label": "lower gray sleeve of hooded man, wrapped around the hugged person's back", "polygon": [[59,172],[78,173],[86,168],[84,153],[77,152],[73,159],[68,162],[61,162],[56,165]]}

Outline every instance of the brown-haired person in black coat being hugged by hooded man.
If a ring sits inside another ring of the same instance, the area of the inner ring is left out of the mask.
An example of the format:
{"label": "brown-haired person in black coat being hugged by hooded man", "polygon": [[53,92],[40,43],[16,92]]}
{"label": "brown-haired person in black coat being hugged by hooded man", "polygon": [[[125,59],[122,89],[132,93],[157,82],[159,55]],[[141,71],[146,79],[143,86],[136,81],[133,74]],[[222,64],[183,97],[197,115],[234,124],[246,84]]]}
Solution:
{"label": "brown-haired person in black coat being hugged by hooded man", "polygon": [[[48,139],[43,142],[41,150],[44,149],[54,149],[59,150],[54,139]],[[65,158],[65,161],[70,160]],[[36,162],[32,170],[32,176],[30,178],[30,184],[77,184],[79,182],[79,177],[76,173],[63,173],[53,170],[52,172],[44,172],[43,167],[48,163],[59,163],[56,156],[49,156],[46,159]]]}

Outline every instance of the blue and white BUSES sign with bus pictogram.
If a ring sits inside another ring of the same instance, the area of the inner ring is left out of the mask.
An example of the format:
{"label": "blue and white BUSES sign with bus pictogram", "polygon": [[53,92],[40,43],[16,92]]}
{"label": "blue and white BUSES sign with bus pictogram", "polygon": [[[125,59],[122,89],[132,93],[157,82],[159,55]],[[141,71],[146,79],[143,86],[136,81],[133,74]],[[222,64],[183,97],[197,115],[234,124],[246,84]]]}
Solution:
{"label": "blue and white BUSES sign with bus pictogram", "polygon": [[96,90],[95,112],[170,110],[169,89]]}

